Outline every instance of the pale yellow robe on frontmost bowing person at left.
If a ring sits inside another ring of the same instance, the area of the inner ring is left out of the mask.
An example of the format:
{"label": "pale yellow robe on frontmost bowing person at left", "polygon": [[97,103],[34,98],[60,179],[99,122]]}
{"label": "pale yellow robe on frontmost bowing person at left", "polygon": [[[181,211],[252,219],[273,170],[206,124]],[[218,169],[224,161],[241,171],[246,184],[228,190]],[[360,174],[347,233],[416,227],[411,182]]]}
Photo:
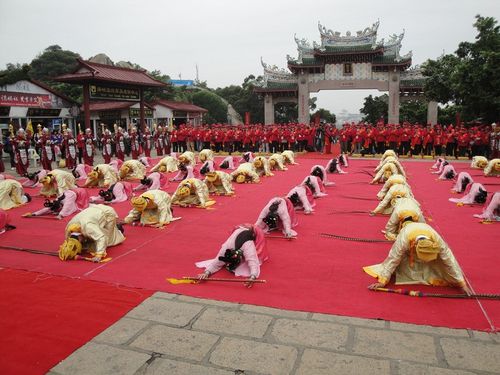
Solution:
{"label": "pale yellow robe on frontmost bowing person at left", "polygon": [[113,208],[104,204],[91,204],[68,222],[66,238],[70,236],[68,231],[70,225],[80,225],[85,238],[83,249],[104,258],[108,246],[115,246],[125,241],[122,232],[116,227],[117,219],[118,215]]}

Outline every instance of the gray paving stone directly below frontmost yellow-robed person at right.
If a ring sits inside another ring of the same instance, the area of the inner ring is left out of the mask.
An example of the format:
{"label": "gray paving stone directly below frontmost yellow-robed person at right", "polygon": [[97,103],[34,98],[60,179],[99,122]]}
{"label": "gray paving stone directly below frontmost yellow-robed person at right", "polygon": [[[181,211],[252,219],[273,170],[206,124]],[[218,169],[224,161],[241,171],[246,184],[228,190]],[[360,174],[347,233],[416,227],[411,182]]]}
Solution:
{"label": "gray paving stone directly below frontmost yellow-robed person at right", "polygon": [[429,364],[437,363],[433,337],[418,333],[356,328],[353,352]]}

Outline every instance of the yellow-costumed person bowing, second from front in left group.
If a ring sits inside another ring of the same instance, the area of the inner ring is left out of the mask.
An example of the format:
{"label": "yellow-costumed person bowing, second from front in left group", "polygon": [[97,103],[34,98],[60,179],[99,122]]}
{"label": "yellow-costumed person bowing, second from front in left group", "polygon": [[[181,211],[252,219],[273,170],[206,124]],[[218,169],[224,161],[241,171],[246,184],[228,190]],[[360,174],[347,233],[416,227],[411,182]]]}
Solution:
{"label": "yellow-costumed person bowing, second from front in left group", "polygon": [[149,190],[130,200],[132,210],[123,219],[126,224],[151,225],[161,228],[174,218],[171,208],[172,199],[163,190]]}

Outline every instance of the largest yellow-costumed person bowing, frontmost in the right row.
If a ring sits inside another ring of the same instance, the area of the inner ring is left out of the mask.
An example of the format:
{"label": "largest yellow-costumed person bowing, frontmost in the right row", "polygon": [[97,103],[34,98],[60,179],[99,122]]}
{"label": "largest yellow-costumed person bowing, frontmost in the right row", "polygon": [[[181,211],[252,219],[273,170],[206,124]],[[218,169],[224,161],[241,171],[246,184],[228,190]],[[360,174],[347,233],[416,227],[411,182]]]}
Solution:
{"label": "largest yellow-costumed person bowing, frontmost in the right row", "polygon": [[377,278],[370,289],[384,287],[395,275],[396,284],[453,286],[470,294],[453,252],[428,224],[408,222],[380,264],[363,267]]}

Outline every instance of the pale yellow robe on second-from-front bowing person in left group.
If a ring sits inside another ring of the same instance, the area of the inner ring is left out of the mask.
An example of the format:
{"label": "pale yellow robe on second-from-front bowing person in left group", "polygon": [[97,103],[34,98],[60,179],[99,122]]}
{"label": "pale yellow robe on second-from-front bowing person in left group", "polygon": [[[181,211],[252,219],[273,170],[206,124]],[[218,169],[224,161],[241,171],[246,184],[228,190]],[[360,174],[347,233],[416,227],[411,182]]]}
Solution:
{"label": "pale yellow robe on second-from-front bowing person in left group", "polygon": [[135,208],[123,219],[125,223],[132,223],[139,220],[141,224],[168,224],[173,220],[172,209],[170,207],[172,199],[163,190],[149,190],[140,195],[152,198],[154,207],[139,211]]}

